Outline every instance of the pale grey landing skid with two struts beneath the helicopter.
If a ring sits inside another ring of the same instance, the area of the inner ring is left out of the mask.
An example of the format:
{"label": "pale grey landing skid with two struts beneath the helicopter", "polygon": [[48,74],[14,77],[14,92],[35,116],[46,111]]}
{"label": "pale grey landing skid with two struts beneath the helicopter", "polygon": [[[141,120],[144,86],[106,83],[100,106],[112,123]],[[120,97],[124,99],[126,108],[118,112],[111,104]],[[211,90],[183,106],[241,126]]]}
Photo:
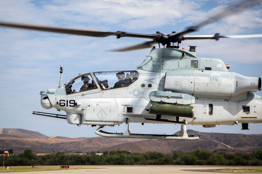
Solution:
{"label": "pale grey landing skid with two struts beneath the helicopter", "polygon": [[[184,128],[184,129],[183,129]],[[199,137],[194,137],[194,135],[188,136],[186,131],[186,124],[181,124],[181,131],[179,135],[155,135],[155,134],[130,134],[129,132],[129,121],[128,118],[125,122],[124,133],[109,133],[105,131],[96,131],[96,135],[111,138],[146,138],[146,139],[163,139],[163,140],[198,140]]]}

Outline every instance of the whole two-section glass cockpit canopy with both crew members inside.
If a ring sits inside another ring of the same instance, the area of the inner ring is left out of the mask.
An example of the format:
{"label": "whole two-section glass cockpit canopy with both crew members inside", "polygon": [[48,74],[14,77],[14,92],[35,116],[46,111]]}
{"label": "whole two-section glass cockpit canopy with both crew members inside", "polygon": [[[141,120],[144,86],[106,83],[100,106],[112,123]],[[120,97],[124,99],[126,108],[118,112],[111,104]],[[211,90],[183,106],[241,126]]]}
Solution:
{"label": "whole two-section glass cockpit canopy with both crew members inside", "polygon": [[111,90],[124,88],[134,83],[139,77],[137,71],[100,71],[79,74],[65,85],[66,94],[94,89]]}

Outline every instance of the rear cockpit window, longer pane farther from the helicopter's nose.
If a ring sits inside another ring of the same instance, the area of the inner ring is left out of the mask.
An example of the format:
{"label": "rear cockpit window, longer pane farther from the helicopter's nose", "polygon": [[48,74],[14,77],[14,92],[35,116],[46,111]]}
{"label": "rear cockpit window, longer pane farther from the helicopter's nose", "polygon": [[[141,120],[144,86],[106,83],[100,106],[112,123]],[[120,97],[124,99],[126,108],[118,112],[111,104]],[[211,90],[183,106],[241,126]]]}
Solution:
{"label": "rear cockpit window, longer pane farther from the helicopter's nose", "polygon": [[94,72],[102,90],[123,88],[134,83],[139,76],[137,71]]}

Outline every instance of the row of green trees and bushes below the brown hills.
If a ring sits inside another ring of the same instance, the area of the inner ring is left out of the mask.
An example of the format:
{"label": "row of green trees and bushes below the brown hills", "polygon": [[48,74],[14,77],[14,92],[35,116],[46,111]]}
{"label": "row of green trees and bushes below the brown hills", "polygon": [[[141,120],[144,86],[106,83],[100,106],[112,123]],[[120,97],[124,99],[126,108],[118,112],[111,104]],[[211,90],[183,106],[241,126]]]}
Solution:
{"label": "row of green trees and bushes below the brown hills", "polygon": [[[3,164],[3,155],[0,156],[0,164]],[[86,155],[47,154],[36,156],[31,149],[25,149],[24,153],[5,156],[5,166],[26,165],[243,165],[261,166],[262,150],[254,153],[207,152],[198,150],[192,152],[174,152],[164,154],[160,152],[131,153],[127,150],[105,151],[102,155],[95,152]]]}

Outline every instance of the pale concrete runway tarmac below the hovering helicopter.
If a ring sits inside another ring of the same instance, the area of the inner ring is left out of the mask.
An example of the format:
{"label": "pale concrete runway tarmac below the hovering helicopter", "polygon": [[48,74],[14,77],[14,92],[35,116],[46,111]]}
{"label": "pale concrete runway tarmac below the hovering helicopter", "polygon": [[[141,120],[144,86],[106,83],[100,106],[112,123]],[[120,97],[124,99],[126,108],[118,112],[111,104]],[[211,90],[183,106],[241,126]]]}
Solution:
{"label": "pale concrete runway tarmac below the hovering helicopter", "polygon": [[[44,167],[44,166],[42,166]],[[60,167],[60,166],[58,166]],[[161,166],[70,166],[73,167],[94,167],[97,169],[78,169],[78,170],[52,170],[52,171],[29,171],[29,172],[8,172],[8,174],[30,174],[30,173],[40,173],[40,174],[50,174],[50,173],[66,173],[66,174],[158,174],[158,173],[220,173],[213,172],[215,169],[240,169],[240,168],[262,168],[261,166],[179,166],[179,165],[161,165]],[[221,174],[221,173],[220,173]]]}

